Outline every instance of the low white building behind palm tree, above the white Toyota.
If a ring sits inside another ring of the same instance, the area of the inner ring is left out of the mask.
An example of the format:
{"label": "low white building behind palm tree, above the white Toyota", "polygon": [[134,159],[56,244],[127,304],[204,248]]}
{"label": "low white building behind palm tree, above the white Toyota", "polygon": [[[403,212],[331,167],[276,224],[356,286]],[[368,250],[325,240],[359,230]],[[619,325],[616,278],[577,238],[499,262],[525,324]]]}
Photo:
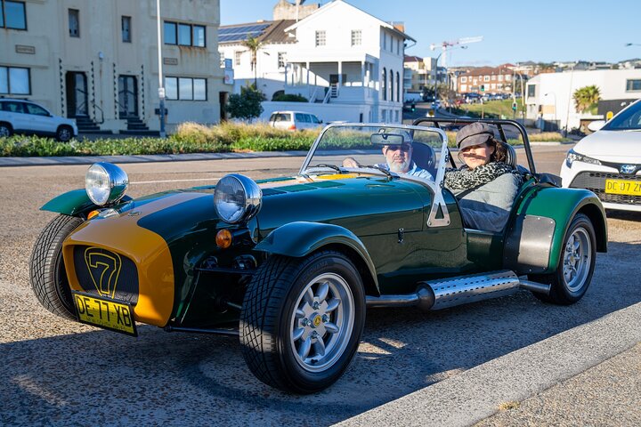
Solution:
{"label": "low white building behind palm tree, above the white Toyota", "polygon": [[574,109],[574,92],[596,85],[601,100],[636,100],[641,98],[641,69],[568,70],[545,73],[528,81],[525,102],[526,118],[556,122],[558,128],[580,127],[582,118],[592,117]]}

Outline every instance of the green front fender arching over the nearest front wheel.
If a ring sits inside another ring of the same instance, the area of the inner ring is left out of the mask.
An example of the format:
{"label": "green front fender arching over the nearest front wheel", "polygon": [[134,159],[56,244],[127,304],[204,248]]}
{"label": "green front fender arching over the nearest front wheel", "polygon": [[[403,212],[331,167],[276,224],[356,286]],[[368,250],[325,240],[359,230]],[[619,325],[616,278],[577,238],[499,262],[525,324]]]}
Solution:
{"label": "green front fender arching over the nearest front wheel", "polygon": [[367,282],[370,282],[374,288],[369,291],[373,294],[380,294],[374,262],[369,257],[367,249],[360,238],[343,227],[321,222],[290,222],[272,230],[266,238],[256,245],[255,250],[301,258],[324,246],[342,246],[350,254],[356,254],[358,259],[354,261],[361,263],[361,266],[366,267],[369,271],[370,280],[363,278],[363,282],[366,287],[368,286]]}

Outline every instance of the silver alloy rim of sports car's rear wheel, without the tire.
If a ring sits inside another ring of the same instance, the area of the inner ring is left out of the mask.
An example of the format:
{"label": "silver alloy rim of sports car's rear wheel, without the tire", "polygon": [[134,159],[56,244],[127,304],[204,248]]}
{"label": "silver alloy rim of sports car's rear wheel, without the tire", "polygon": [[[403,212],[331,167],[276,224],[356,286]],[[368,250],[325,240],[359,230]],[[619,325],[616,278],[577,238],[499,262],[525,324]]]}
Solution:
{"label": "silver alloy rim of sports car's rear wheel, without the tire", "polygon": [[592,244],[588,231],[579,227],[572,232],[564,247],[564,283],[570,292],[577,292],[585,285],[592,262]]}

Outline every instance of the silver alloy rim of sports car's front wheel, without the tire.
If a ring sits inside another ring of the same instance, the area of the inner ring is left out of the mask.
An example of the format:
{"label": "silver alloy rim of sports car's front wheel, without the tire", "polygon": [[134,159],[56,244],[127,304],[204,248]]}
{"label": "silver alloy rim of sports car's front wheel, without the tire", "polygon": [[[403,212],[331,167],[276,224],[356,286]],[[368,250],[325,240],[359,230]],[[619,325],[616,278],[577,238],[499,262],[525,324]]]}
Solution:
{"label": "silver alloy rim of sports car's front wheel, without the tire", "polygon": [[308,372],[332,367],[353,333],[354,300],[345,278],[335,273],[313,278],[298,294],[289,325],[298,365]]}

